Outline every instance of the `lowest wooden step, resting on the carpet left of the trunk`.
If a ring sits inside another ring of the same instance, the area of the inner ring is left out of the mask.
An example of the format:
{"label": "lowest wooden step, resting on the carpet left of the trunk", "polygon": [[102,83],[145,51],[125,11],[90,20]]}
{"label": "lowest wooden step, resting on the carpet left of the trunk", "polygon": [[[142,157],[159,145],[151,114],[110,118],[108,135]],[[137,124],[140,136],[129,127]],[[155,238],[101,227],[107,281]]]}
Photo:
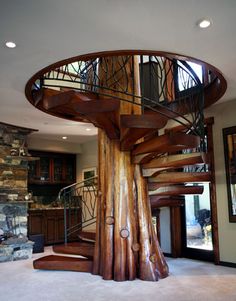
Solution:
{"label": "lowest wooden step, resting on the carpet left of the trunk", "polygon": [[91,273],[93,262],[84,258],[49,255],[33,262],[34,269]]}

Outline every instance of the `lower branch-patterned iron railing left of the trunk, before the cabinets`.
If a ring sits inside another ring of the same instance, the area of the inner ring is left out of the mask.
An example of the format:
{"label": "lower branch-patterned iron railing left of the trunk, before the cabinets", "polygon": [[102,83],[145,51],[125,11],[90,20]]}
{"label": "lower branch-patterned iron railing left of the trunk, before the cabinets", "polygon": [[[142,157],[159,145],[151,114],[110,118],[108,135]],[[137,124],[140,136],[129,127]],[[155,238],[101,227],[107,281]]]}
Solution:
{"label": "lower branch-patterned iron railing left of the trunk, before the cabinets", "polygon": [[70,236],[96,222],[97,176],[64,187],[58,195],[64,205],[65,243]]}

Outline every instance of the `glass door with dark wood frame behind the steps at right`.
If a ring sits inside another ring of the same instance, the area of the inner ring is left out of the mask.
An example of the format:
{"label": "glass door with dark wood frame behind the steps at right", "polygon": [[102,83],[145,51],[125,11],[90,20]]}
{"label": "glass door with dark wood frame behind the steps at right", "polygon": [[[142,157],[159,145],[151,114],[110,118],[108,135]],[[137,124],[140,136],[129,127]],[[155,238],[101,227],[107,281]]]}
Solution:
{"label": "glass door with dark wood frame behind the steps at right", "polygon": [[[204,193],[185,196],[184,206],[170,207],[169,211],[171,255],[214,261],[215,264],[219,264],[213,124],[213,118],[205,120],[207,171],[211,172],[211,182],[188,184],[204,186]],[[181,128],[171,130],[179,131]]]}

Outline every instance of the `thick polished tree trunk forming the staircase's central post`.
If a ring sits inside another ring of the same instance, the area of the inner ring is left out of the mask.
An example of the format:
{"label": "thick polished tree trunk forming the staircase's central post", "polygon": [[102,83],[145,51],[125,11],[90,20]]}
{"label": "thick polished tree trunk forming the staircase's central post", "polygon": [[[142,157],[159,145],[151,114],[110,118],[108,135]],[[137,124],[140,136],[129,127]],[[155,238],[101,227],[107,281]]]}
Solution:
{"label": "thick polished tree trunk forming the staircase's central post", "polygon": [[[116,59],[119,63],[121,57]],[[114,58],[112,60],[114,72]],[[109,63],[107,60],[106,65]],[[119,66],[117,64],[117,68]],[[134,64],[130,59],[126,68],[138,74],[137,62]],[[132,91],[136,86],[138,93],[138,76],[131,79],[129,89]],[[119,114],[124,113],[141,112],[139,107],[123,102]],[[154,233],[147,183],[140,166],[132,164],[130,152],[120,150],[119,140],[109,139],[101,129],[98,149],[101,195],[97,206],[93,273],[116,281],[135,278],[157,281],[166,277],[168,266]]]}

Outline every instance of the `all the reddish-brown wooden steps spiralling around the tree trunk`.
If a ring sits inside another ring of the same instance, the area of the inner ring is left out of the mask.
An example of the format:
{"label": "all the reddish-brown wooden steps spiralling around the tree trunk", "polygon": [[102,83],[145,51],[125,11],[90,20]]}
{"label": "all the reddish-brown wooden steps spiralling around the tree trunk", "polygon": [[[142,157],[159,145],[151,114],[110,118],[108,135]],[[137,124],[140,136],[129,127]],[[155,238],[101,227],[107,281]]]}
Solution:
{"label": "all the reddish-brown wooden steps spiralling around the tree trunk", "polygon": [[[54,98],[51,99],[54,101]],[[101,100],[94,94],[78,97],[78,94],[75,96],[75,93],[64,92],[59,100],[57,105],[53,101],[51,103],[45,101],[45,105],[49,110],[56,108],[61,112],[66,111],[68,114],[89,120],[95,126],[102,128],[109,139],[119,139],[122,151],[131,152],[133,163],[141,165],[143,177],[148,179],[151,208],[182,206],[181,196],[200,194],[203,191],[201,186],[189,187],[184,183],[210,181],[209,173],[174,171],[184,166],[204,164],[206,158],[203,153],[199,152],[176,154],[185,149],[197,148],[200,139],[197,136],[179,132],[169,132],[158,136],[158,130],[164,128],[168,121],[168,118],[162,114],[157,112],[141,115],[122,114],[117,118],[119,109],[117,100],[109,100],[109,103],[108,100]],[[54,247],[54,251],[85,258],[51,255],[36,260],[34,268],[81,272],[91,272],[93,269],[93,245],[67,244]]]}

